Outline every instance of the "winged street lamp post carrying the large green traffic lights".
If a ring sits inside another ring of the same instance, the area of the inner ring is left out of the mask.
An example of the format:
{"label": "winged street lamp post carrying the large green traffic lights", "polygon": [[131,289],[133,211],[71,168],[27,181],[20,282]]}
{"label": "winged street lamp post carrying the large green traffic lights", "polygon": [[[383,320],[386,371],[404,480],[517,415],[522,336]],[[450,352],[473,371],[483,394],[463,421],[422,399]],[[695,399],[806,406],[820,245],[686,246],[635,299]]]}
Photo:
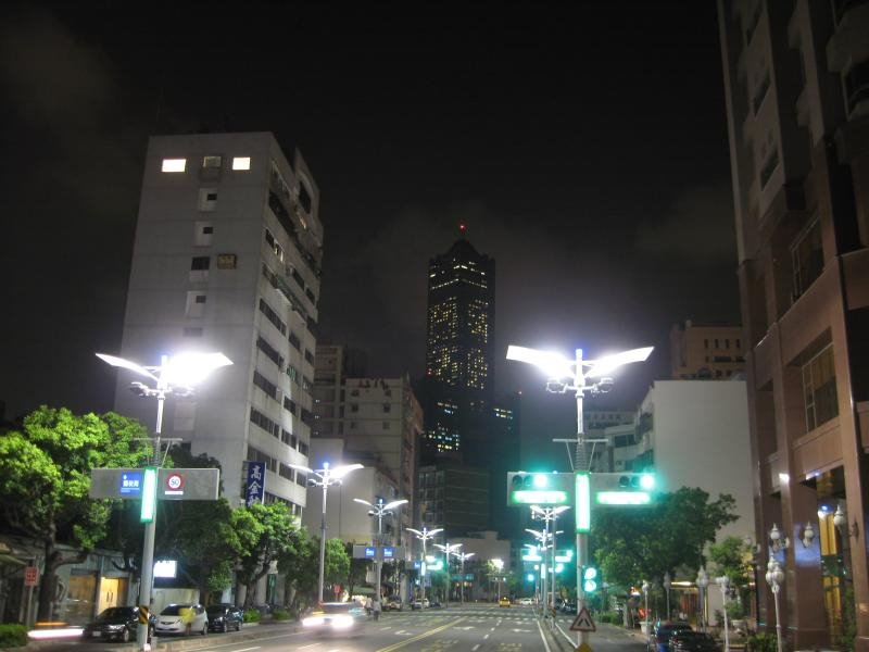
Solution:
{"label": "winged street lamp post carrying the large green traffic lights", "polygon": [[[643,362],[652,353],[653,347],[632,349],[613,355],[605,355],[597,360],[583,360],[582,349],[576,350],[574,361],[547,351],[538,351],[525,347],[511,346],[507,348],[507,360],[526,362],[533,364],[546,373],[546,391],[553,393],[576,392],[577,401],[577,436],[576,454],[570,460],[574,472],[587,472],[591,466],[591,461],[585,452],[585,426],[582,416],[582,400],[587,391],[591,393],[605,393],[613,387],[613,378],[609,377],[615,369],[621,365],[632,362]],[[587,383],[591,380],[591,383]],[[577,518],[579,518],[577,505]],[[589,563],[589,535],[587,531],[577,531],[577,613],[585,606],[585,592],[582,588],[582,568]],[[588,645],[589,634],[580,631],[577,638],[577,647]]]}

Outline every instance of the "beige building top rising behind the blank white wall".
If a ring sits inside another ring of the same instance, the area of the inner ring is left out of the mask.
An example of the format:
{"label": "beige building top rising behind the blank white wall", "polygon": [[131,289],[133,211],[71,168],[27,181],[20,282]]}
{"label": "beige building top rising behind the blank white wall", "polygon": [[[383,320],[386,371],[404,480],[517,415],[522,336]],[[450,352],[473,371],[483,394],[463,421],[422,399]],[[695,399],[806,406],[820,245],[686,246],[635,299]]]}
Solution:
{"label": "beige building top rising behind the blank white wall", "polygon": [[726,380],[744,372],[742,327],[691,319],[673,325],[670,366],[673,380]]}

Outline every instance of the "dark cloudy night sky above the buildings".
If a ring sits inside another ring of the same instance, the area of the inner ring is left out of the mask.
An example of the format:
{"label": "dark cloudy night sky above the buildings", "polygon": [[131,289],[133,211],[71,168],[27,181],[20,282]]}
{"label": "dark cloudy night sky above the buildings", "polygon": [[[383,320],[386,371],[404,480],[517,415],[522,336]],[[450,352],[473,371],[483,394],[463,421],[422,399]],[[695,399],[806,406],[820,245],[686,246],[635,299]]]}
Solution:
{"label": "dark cloudy night sky above the buildings", "polygon": [[0,15],[7,417],[111,409],[93,352],[119,348],[151,134],[301,148],[320,341],[367,351],[371,375],[421,375],[428,259],[465,222],[496,260],[496,389],[524,391],[526,444],[571,436],[575,403],[508,343],[655,344],[606,402],[633,409],[673,323],[738,321],[713,2],[139,4]]}

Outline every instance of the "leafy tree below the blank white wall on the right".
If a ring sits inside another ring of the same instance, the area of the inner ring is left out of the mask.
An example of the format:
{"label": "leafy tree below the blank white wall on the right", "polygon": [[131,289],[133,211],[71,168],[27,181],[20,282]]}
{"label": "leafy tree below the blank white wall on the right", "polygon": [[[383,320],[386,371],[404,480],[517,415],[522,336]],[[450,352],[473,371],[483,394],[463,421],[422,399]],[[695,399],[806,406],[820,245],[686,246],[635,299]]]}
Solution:
{"label": "leafy tree below the blank white wall on the right", "polygon": [[706,543],[738,518],[734,506],[727,493],[709,502],[703,489],[682,487],[647,507],[597,510],[591,548],[604,579],[628,588],[644,578],[663,578],[682,565],[698,567]]}

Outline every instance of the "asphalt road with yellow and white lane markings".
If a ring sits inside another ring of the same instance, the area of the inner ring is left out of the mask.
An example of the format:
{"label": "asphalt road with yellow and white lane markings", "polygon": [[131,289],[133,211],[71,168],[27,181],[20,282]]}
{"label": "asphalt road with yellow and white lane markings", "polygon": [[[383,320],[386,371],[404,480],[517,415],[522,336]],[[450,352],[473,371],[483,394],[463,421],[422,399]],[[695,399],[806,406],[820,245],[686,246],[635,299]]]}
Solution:
{"label": "asphalt road with yellow and white lane markings", "polygon": [[[570,617],[558,624],[567,630]],[[243,631],[243,630],[242,630]],[[562,652],[571,649],[544,642],[538,619],[528,606],[502,607],[491,604],[451,604],[449,609],[417,612],[388,612],[380,619],[366,620],[353,636],[322,637],[307,631],[293,631],[289,625],[261,627],[256,638],[232,640],[237,635],[178,637],[172,641],[189,642],[198,652]],[[552,639],[550,639],[552,640]],[[162,640],[161,640],[162,642]],[[592,635],[594,652],[643,652],[643,642],[619,627],[603,625]],[[64,641],[40,645],[40,652],[112,652],[133,645],[91,641]],[[156,652],[160,652],[159,647]]]}

